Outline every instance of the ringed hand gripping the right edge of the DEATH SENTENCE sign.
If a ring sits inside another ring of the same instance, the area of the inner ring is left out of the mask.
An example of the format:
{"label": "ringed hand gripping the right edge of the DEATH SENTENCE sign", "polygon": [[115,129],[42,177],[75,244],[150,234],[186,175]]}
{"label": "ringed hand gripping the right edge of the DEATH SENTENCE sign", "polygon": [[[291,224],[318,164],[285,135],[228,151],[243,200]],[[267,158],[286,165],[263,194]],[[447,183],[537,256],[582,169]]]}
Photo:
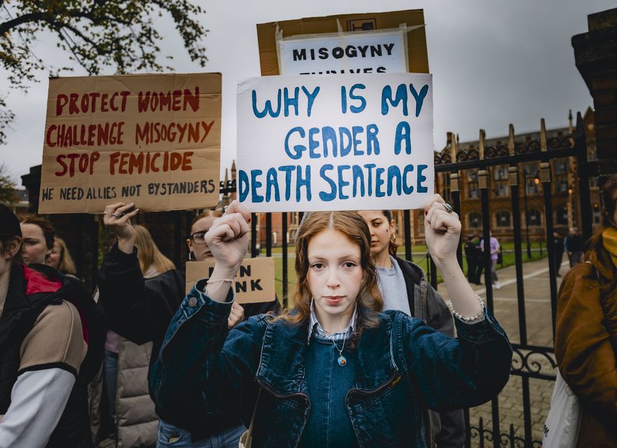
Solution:
{"label": "ringed hand gripping the right edge of the DEATH SENTENCE sign", "polygon": [[440,195],[424,206],[424,238],[435,265],[456,263],[456,248],[461,239],[461,220],[454,211],[447,211]]}

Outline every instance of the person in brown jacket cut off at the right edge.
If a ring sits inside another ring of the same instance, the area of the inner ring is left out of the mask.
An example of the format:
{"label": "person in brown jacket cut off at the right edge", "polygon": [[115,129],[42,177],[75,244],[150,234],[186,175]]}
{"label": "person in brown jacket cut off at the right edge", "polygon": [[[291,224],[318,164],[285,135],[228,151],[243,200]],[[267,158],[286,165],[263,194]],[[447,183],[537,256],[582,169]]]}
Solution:
{"label": "person in brown jacket cut off at the right edge", "polygon": [[617,176],[604,183],[602,202],[602,225],[557,300],[555,358],[583,412],[577,447],[617,441]]}

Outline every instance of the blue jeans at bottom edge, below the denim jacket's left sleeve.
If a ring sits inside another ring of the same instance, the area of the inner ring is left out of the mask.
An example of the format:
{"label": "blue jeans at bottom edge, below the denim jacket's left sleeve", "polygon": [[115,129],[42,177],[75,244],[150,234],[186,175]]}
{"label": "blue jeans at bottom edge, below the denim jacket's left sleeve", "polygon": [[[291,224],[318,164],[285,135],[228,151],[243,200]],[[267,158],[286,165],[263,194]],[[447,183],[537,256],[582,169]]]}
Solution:
{"label": "blue jeans at bottom edge, below the denim jacket's left sleeve", "polygon": [[222,433],[211,435],[205,439],[191,442],[191,433],[182,428],[158,421],[157,448],[238,448],[240,436],[246,428],[244,425],[234,426]]}

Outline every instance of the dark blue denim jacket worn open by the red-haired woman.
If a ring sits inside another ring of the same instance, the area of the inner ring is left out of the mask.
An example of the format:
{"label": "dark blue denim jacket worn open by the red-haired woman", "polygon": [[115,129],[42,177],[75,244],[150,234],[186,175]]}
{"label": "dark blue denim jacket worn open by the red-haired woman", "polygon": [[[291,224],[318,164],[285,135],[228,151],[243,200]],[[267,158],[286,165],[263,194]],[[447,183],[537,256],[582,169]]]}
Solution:
{"label": "dark blue denim jacket worn open by the red-haired woman", "polygon": [[[219,303],[203,286],[196,284],[172,319],[151,370],[152,398],[194,424],[236,415],[248,426],[262,388],[253,446],[297,447],[311,412],[303,360],[308,323],[255,316],[227,336],[231,290]],[[355,343],[355,384],[346,393],[360,447],[426,447],[423,407],[477,406],[508,381],[512,348],[489,311],[473,325],[457,320],[459,339],[400,311],[377,319]]]}

